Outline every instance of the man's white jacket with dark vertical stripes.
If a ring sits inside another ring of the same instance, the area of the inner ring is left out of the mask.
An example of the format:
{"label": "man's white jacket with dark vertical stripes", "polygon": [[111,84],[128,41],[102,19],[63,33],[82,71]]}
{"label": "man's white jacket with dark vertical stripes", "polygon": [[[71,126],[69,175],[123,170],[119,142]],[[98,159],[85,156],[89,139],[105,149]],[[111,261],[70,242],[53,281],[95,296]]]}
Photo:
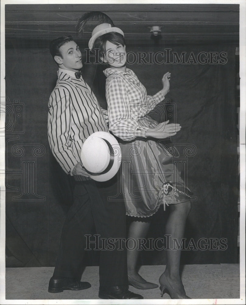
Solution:
{"label": "man's white jacket with dark vertical stripes", "polygon": [[[107,131],[107,110],[82,77],[59,69],[58,80],[49,99],[48,140],[51,151],[67,174],[80,160],[83,142],[95,131]],[[75,176],[75,180],[89,180]]]}

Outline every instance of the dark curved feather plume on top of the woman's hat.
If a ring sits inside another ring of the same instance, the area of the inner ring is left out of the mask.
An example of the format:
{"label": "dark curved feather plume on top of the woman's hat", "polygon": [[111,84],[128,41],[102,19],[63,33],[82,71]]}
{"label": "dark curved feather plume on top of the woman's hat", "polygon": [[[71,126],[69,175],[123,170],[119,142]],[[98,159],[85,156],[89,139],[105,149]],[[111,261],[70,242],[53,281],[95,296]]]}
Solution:
{"label": "dark curved feather plume on top of the woman's hat", "polygon": [[99,11],[93,11],[93,12],[85,13],[83,16],[79,18],[78,23],[76,25],[76,32],[83,33],[87,23],[93,21],[97,21],[97,25],[101,23],[109,23],[111,24],[112,27],[114,27],[114,23],[109,18],[109,16]]}

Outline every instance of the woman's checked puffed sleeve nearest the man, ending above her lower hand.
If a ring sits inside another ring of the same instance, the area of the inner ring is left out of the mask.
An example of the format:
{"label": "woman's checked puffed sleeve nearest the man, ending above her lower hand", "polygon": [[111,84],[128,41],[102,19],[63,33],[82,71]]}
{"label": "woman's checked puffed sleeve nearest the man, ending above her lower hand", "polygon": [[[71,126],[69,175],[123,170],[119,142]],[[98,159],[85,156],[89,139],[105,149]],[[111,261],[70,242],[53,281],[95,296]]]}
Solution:
{"label": "woman's checked puffed sleeve nearest the man, ending above her lower hand", "polygon": [[[121,76],[107,78],[106,98],[108,104],[109,130],[124,141],[146,137],[146,130],[139,128],[137,112],[132,111],[134,101],[129,101],[127,87]],[[131,102],[131,103],[130,103]]]}

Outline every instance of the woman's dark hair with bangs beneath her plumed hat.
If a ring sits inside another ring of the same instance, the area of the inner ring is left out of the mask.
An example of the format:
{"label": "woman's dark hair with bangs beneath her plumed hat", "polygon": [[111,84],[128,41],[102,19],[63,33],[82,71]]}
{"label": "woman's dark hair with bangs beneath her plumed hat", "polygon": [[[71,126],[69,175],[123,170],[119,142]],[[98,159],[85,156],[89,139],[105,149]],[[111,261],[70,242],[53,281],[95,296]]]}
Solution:
{"label": "woman's dark hair with bangs beneath her plumed hat", "polygon": [[97,37],[95,40],[92,49],[95,51],[99,49],[99,57],[104,57],[106,53],[106,43],[107,41],[113,43],[114,45],[125,45],[124,36],[117,32],[109,32],[102,36]]}

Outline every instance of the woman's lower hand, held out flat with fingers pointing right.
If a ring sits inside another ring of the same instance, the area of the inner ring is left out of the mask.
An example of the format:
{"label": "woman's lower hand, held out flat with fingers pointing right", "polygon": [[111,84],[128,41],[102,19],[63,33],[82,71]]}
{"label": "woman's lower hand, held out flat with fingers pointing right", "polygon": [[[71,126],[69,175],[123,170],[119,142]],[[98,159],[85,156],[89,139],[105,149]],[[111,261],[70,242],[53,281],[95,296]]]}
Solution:
{"label": "woman's lower hand, held out flat with fingers pointing right", "polygon": [[168,124],[169,120],[160,123],[155,128],[150,128],[146,131],[146,137],[153,137],[156,139],[164,139],[176,135],[180,131],[181,126],[179,124]]}

